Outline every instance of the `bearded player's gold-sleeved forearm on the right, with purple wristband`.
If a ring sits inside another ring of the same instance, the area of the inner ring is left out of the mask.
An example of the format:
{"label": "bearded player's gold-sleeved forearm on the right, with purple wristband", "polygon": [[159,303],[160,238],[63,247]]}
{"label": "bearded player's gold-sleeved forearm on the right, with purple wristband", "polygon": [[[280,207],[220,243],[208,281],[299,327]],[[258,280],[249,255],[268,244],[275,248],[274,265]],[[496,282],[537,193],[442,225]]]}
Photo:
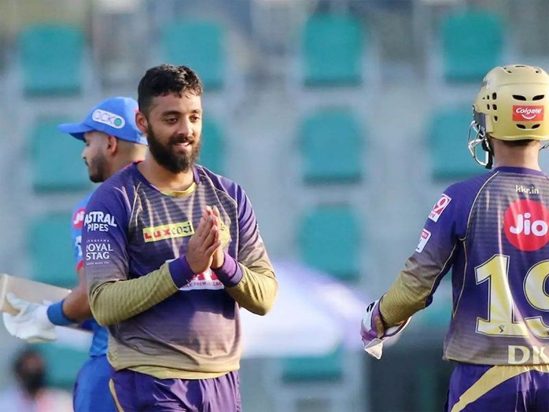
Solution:
{"label": "bearded player's gold-sleeved forearm on the right, with purple wristband", "polygon": [[214,270],[237,303],[255,314],[266,314],[277,296],[278,282],[268,262],[246,267],[225,255],[223,266]]}

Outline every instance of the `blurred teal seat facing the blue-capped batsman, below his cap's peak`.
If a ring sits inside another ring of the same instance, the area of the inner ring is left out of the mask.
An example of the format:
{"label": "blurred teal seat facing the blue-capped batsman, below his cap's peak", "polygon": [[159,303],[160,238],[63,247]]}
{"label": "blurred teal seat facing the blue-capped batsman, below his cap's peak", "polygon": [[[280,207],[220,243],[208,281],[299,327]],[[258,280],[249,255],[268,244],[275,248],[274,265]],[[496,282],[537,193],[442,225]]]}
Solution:
{"label": "blurred teal seat facing the blue-capped batsman, below his cap's peak", "polygon": [[67,192],[91,187],[82,161],[84,143],[57,130],[57,125],[64,121],[41,119],[32,129],[32,185],[36,192]]}

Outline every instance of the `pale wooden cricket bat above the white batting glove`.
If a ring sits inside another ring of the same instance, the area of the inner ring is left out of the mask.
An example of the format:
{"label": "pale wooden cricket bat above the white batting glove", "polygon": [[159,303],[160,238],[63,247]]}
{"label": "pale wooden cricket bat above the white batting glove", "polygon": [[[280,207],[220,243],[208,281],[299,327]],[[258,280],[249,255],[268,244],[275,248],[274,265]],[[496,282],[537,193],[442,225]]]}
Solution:
{"label": "pale wooden cricket bat above the white batting glove", "polygon": [[67,297],[71,290],[3,273],[0,275],[0,312],[17,314],[18,311],[6,299],[8,293],[36,304],[43,304],[44,301],[60,301]]}

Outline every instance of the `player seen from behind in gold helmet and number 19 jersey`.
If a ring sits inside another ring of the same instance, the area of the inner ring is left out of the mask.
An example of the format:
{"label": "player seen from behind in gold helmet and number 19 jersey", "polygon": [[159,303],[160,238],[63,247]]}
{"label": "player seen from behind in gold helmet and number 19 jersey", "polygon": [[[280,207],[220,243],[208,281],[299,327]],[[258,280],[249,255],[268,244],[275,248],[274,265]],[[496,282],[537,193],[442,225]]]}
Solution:
{"label": "player seen from behind in gold helmet and number 19 jersey", "polygon": [[549,178],[538,164],[549,139],[549,76],[496,67],[473,108],[469,150],[496,167],[451,185],[434,205],[415,253],[366,310],[364,349],[379,358],[387,334],[428,306],[452,269],[444,358],[457,366],[446,410],[549,411]]}

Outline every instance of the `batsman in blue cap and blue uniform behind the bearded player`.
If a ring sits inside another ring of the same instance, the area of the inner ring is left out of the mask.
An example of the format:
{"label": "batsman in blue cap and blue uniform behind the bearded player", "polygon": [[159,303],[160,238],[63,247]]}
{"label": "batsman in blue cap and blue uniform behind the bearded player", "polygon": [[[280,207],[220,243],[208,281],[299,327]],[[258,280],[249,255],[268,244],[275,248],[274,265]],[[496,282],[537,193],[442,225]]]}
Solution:
{"label": "batsman in blue cap and blue uniform behind the bearded player", "polygon": [[[137,102],[133,99],[111,98],[92,108],[81,124],[58,126],[61,132],[85,142],[82,157],[88,166],[91,181],[105,181],[126,165],[145,158],[147,141],[135,124],[137,108]],[[75,383],[74,409],[76,412],[108,412],[116,411],[108,388],[108,331],[90,319],[92,315],[84,284],[80,246],[84,211],[90,197],[91,194],[76,205],[71,221],[76,271],[80,279],[78,286],[65,299],[50,306],[31,304],[18,298],[12,298],[12,301],[14,307],[21,310],[14,317],[18,323],[16,336],[27,341],[54,340],[55,325],[66,326],[84,321],[82,327],[93,332],[93,343],[90,359],[80,369]]]}

